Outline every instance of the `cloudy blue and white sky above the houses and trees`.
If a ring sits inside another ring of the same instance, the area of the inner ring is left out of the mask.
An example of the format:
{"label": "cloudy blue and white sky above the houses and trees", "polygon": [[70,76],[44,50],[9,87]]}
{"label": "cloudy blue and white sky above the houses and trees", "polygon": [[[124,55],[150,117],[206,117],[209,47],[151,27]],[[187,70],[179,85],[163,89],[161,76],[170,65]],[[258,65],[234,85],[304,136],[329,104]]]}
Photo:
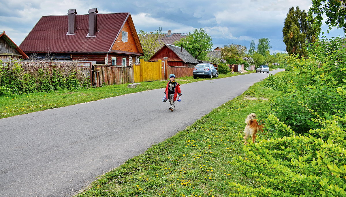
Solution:
{"label": "cloudy blue and white sky above the houses and trees", "polygon": [[[259,38],[269,38],[271,54],[285,51],[282,27],[290,7],[308,10],[311,0],[0,0],[0,31],[19,46],[37,21],[47,15],[67,15],[69,9],[87,14],[130,12],[135,27],[146,32],[188,33],[204,28],[213,48],[227,44],[256,47]],[[322,27],[326,32],[327,26]],[[334,28],[327,38],[344,35]]]}

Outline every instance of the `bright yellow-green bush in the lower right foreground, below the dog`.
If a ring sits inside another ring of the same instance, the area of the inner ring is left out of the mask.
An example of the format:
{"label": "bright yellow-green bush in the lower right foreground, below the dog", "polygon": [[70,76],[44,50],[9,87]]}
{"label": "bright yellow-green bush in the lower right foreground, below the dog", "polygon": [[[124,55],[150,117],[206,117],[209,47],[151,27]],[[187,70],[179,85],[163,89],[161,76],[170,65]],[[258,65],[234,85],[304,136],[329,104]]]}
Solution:
{"label": "bright yellow-green bush in the lower right foreground, below the dog", "polygon": [[292,135],[245,145],[244,158],[234,158],[232,164],[251,186],[229,183],[229,196],[346,196],[346,127],[340,126],[345,118],[315,119],[323,126],[310,130],[313,137],[294,135],[271,117],[277,131]]}

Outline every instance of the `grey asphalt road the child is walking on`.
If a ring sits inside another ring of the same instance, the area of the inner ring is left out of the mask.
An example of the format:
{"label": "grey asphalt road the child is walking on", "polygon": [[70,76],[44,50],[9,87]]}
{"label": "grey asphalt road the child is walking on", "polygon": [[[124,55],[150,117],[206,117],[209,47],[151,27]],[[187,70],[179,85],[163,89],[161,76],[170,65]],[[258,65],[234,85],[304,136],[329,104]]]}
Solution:
{"label": "grey asphalt road the child is walking on", "polygon": [[0,119],[0,196],[71,196],[267,76],[183,84],[174,112],[157,89]]}

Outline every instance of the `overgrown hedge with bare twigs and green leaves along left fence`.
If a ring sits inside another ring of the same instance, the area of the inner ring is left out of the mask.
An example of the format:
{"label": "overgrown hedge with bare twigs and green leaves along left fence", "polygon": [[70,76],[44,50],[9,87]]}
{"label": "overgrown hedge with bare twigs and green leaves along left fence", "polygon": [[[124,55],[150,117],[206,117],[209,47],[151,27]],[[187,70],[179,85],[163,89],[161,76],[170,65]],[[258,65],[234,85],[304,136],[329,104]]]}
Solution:
{"label": "overgrown hedge with bare twigs and green leaves along left fence", "polygon": [[75,90],[89,87],[76,65],[21,65],[19,62],[0,62],[0,96],[32,92]]}

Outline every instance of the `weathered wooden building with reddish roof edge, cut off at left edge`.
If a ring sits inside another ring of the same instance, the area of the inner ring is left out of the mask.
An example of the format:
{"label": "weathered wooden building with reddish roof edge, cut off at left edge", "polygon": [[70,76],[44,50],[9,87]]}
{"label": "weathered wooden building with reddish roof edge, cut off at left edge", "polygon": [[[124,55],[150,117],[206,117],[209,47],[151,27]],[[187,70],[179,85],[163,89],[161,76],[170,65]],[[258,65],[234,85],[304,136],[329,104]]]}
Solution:
{"label": "weathered wooden building with reddish roof edge, cut off at left edge", "polygon": [[28,56],[14,43],[5,31],[0,34],[0,60],[20,60],[27,59]]}

